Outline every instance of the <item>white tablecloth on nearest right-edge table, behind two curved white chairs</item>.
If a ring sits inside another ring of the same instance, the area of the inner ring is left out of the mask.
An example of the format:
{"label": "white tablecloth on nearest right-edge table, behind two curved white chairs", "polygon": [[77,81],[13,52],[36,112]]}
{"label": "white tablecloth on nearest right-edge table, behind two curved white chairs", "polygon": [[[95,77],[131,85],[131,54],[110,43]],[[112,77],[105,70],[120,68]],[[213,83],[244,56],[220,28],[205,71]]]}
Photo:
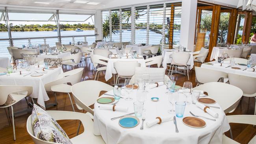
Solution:
{"label": "white tablecloth on nearest right-edge table, behind two curved white chairs", "polygon": [[[216,63],[217,61],[211,61],[210,63]],[[206,65],[206,64],[202,64],[201,65],[202,68],[208,68],[211,70],[219,70],[221,72],[226,72],[226,73],[230,73],[230,74],[238,74],[241,76],[249,76],[249,77],[253,77],[256,78],[256,72],[249,72],[244,70],[245,68],[247,68],[247,66],[240,66],[240,65],[235,65],[233,67],[239,67],[241,68],[241,70],[236,70],[230,67],[226,68],[225,66],[214,66],[214,65]]]}

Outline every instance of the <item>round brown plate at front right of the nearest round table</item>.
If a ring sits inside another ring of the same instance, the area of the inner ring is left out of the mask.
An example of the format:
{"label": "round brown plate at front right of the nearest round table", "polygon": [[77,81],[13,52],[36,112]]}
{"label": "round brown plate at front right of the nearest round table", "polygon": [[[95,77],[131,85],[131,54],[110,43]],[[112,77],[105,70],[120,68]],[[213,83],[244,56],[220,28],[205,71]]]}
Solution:
{"label": "round brown plate at front right of the nearest round table", "polygon": [[195,128],[202,128],[206,126],[206,122],[204,120],[190,116],[183,118],[182,122],[187,126]]}

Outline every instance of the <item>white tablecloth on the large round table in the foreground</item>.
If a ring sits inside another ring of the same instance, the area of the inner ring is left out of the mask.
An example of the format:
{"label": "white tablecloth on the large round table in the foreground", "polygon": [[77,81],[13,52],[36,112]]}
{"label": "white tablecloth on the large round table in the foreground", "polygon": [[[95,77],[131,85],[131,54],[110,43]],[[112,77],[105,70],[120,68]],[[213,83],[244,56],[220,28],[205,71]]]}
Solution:
{"label": "white tablecloth on the large round table in the foreground", "polygon": [[[182,118],[177,117],[176,120],[179,133],[175,133],[173,121],[156,124],[150,128],[146,127],[146,122],[154,120],[158,116],[174,116],[174,114],[167,112],[167,110],[170,109],[171,104],[168,101],[165,91],[165,85],[149,90],[147,100],[144,102],[144,107],[146,109],[144,130],[139,129],[142,122],[141,118],[139,118],[139,125],[133,128],[119,126],[119,119],[110,120],[113,117],[134,112],[133,103],[136,99],[136,90],[133,90],[130,94],[133,98],[132,101],[120,99],[119,103],[117,103],[118,106],[128,107],[127,112],[100,110],[98,108],[98,105],[100,104],[95,102],[94,134],[101,135],[106,144],[221,144],[223,133],[230,129],[226,115],[222,109],[212,109],[219,114],[219,118],[216,118],[215,122],[202,118],[202,120],[206,122],[206,127],[203,128],[186,126],[182,123]],[[113,94],[113,90],[109,91],[108,94]],[[156,96],[160,98],[158,102],[150,100],[151,97]],[[185,96],[182,95],[180,101],[184,100]],[[220,107],[217,103],[213,104],[213,106]],[[197,115],[213,118],[193,104],[186,105],[184,117],[192,116],[189,111]]]}

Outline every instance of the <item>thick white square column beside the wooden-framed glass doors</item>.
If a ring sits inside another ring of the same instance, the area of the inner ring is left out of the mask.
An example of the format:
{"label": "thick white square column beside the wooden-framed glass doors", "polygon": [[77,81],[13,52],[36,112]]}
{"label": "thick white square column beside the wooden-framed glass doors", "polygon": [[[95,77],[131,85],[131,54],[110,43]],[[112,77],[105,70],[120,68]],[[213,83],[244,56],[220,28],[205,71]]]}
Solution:
{"label": "thick white square column beside the wooden-framed glass doors", "polygon": [[195,39],[196,17],[197,0],[182,0],[180,44],[192,52]]}

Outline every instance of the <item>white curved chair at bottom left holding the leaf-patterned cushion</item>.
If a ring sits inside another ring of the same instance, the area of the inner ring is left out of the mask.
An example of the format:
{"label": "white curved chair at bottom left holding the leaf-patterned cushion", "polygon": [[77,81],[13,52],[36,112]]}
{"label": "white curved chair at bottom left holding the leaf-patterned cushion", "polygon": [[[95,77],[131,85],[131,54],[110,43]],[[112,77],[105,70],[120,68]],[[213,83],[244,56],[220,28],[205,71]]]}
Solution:
{"label": "white curved chair at bottom left holding the leaf-patterned cushion", "polygon": [[[70,138],[73,144],[105,144],[101,136],[93,134],[93,121],[88,114],[77,113],[71,111],[46,111],[54,120],[80,120],[82,122],[84,131],[80,135]],[[35,144],[58,144],[55,142],[47,142],[35,137],[32,127],[31,115],[28,117],[26,123],[27,132]]]}

